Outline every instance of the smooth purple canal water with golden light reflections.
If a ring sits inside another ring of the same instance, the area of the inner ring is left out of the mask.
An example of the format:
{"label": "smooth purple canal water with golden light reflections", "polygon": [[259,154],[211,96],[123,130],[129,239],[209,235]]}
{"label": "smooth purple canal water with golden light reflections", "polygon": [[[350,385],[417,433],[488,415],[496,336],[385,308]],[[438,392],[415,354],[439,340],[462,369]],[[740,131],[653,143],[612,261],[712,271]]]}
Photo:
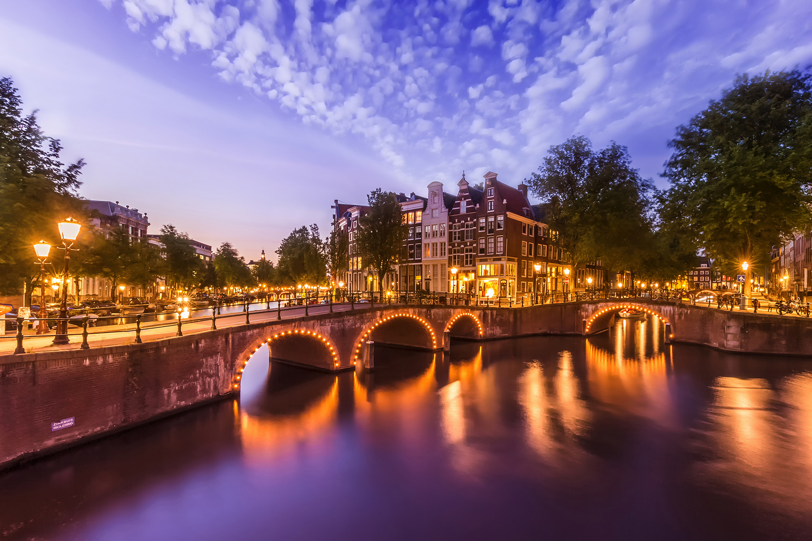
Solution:
{"label": "smooth purple canal water with golden light reflections", "polygon": [[376,363],[260,350],[240,401],[0,474],[0,539],[812,539],[809,361],[650,318]]}

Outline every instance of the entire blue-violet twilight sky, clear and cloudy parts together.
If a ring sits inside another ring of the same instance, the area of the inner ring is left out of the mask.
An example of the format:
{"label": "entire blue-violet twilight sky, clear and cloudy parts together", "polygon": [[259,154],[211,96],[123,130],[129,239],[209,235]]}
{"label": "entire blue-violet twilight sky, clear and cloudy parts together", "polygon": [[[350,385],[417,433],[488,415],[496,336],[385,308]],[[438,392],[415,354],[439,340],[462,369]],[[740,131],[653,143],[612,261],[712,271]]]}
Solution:
{"label": "entire blue-violet twilight sky, clear and cloudy parts together", "polygon": [[736,74],[812,63],[812,2],[4,0],[0,75],[82,195],[248,258],[375,187],[516,184],[570,135],[667,140]]}

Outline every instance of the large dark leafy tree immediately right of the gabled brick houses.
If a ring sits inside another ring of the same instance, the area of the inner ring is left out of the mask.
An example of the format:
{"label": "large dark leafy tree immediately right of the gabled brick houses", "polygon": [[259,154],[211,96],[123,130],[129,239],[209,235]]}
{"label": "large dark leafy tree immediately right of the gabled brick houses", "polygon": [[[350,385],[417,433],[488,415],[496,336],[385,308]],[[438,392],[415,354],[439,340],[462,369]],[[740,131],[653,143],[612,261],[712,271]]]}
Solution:
{"label": "large dark leafy tree immediately right of the gabled brick houses", "polygon": [[551,147],[527,182],[574,268],[601,260],[613,270],[644,270],[653,250],[654,187],[624,146],[612,142],[596,152],[586,137],[572,137]]}

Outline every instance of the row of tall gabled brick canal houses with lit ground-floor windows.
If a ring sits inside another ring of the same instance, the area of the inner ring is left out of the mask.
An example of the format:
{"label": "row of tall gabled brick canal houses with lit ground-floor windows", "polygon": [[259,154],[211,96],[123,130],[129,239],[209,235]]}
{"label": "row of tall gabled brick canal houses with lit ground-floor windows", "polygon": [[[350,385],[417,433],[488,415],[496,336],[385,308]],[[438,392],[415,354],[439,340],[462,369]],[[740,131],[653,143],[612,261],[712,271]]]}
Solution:
{"label": "row of tall gabled brick canal houses with lit ground-floor windows", "polygon": [[[568,276],[572,264],[544,222],[542,205],[530,204],[527,186],[511,187],[489,172],[469,184],[463,174],[456,195],[431,182],[427,195],[396,195],[408,234],[400,264],[384,278],[382,290],[468,293],[483,297],[529,298],[533,293],[602,287],[596,264]],[[349,292],[378,290],[378,277],[356,248],[358,218],[368,207],[335,200],[335,226],[348,234],[348,268],[335,283]],[[536,270],[538,265],[538,271]],[[566,270],[565,272],[565,269]]]}

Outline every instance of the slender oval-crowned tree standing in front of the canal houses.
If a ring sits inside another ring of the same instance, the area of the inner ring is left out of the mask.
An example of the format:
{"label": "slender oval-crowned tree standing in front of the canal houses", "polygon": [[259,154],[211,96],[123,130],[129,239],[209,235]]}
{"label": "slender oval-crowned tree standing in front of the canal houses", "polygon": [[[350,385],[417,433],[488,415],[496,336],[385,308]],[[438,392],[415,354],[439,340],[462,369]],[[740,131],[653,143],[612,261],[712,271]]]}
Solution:
{"label": "slender oval-crowned tree standing in front of the canal houses", "polygon": [[358,218],[358,251],[363,264],[378,274],[378,291],[382,291],[383,277],[400,260],[408,225],[391,191],[378,188],[367,195],[367,201],[369,211]]}

